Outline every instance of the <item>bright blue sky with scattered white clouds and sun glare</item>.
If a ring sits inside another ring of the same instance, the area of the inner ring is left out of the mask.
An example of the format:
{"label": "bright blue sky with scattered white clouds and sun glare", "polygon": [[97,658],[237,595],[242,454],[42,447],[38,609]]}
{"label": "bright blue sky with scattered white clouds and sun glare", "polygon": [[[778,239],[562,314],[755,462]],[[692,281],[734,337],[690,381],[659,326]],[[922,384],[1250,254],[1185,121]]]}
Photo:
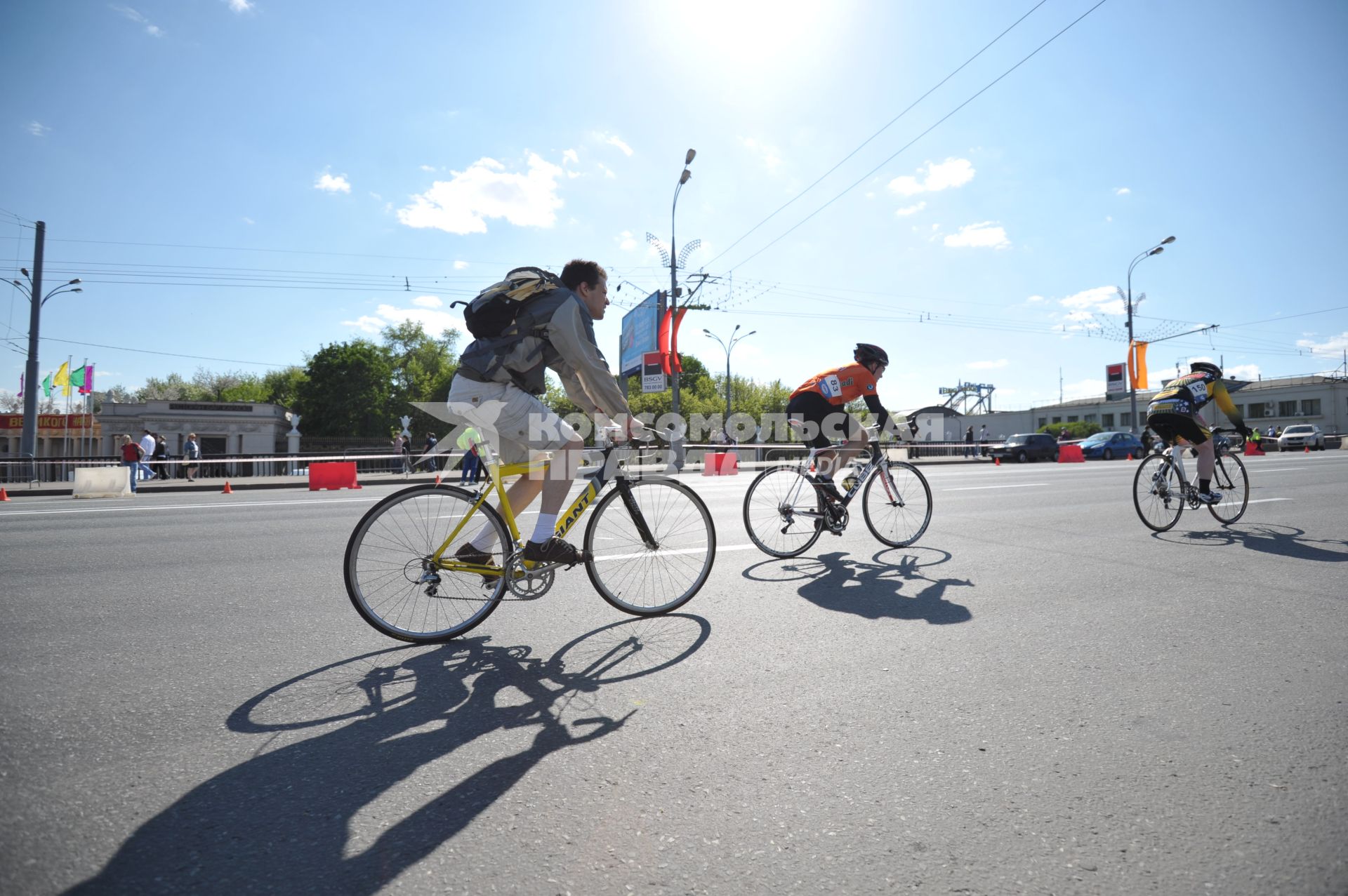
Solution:
{"label": "bright blue sky with scattered white clouds and sun glare", "polygon": [[[1154,345],[1154,381],[1340,365],[1348,7],[1035,4],[13,0],[0,261],[43,220],[47,284],[85,280],[44,309],[43,372],[262,372],[461,325],[449,302],[520,264],[593,257],[623,305],[667,286],[644,237],[694,147],[677,236],[716,310],[681,344],[712,369],[701,330],[740,325],[735,372],[791,385],[886,346],[891,407],[960,380],[1029,407],[1060,371],[1100,395],[1115,290],[1134,271],[1139,335],[1221,329]],[[0,388],[22,371],[0,353]]]}

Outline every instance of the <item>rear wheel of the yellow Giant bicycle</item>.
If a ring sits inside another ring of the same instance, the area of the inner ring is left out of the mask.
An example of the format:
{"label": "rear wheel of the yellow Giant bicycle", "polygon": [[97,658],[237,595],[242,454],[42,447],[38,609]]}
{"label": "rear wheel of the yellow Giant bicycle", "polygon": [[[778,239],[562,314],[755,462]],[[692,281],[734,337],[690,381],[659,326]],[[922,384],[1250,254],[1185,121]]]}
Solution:
{"label": "rear wheel of the yellow Giant bicycle", "polygon": [[[483,573],[456,561],[454,552],[488,524],[496,535],[487,551],[489,565],[500,567],[501,546],[511,542],[493,508],[484,504],[473,512],[476,500],[472,492],[448,485],[415,485],[390,494],[361,517],[346,543],[344,565],[346,594],[361,618],[400,641],[433,644],[458,637],[491,616],[506,579],[484,583]],[[437,563],[431,558],[450,534],[454,540]]]}

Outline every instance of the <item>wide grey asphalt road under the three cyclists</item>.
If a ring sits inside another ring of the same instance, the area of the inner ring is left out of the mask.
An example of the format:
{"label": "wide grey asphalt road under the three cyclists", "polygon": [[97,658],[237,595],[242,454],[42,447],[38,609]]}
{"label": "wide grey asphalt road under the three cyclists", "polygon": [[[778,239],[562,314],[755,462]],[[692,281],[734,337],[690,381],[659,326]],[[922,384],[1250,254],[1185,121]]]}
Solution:
{"label": "wide grey asphalt road under the three cyclists", "polygon": [[1348,451],[1154,535],[1132,465],[925,468],[627,620],[364,625],[361,492],[0,504],[0,892],[1348,892]]}

